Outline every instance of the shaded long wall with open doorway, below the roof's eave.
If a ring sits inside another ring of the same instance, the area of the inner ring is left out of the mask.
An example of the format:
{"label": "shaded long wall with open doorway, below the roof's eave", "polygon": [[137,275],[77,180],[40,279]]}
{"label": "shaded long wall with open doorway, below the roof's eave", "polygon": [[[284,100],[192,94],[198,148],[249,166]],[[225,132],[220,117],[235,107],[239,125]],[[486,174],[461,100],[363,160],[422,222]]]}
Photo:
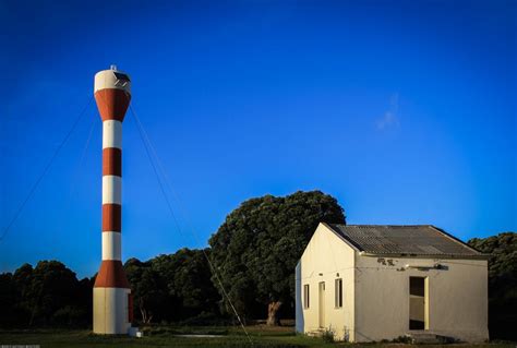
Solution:
{"label": "shaded long wall with open doorway, below the roof's eave", "polygon": [[[393,263],[390,265],[388,260]],[[397,268],[435,263],[447,269]],[[409,277],[428,277],[429,331],[466,341],[488,333],[485,260],[356,257],[356,340],[393,339],[409,333]]]}

